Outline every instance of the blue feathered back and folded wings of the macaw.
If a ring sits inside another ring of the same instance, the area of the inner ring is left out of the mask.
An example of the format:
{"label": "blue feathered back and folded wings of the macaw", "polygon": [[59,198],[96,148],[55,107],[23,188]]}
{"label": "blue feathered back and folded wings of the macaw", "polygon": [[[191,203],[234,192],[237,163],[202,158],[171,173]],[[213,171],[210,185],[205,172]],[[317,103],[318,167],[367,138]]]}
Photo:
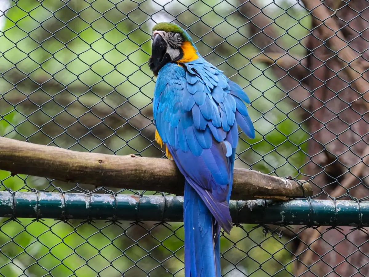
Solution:
{"label": "blue feathered back and folded wings of the macaw", "polygon": [[251,138],[254,127],[242,88],[204,59],[183,66],[168,63],[159,72],[154,119],[177,167],[203,199],[217,223],[230,232],[230,156],[237,147],[237,124]]}

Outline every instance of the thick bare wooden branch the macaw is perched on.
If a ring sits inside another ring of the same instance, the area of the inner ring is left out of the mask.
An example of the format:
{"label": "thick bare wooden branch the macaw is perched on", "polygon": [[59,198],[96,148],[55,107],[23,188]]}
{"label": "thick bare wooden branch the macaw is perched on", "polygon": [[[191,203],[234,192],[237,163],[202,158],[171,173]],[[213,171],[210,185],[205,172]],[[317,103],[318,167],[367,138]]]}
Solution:
{"label": "thick bare wooden branch the macaw is perched on", "polygon": [[[0,170],[84,184],[163,191],[183,195],[184,178],[173,161],[65,150],[0,137]],[[232,198],[277,199],[312,196],[311,185],[236,168]]]}

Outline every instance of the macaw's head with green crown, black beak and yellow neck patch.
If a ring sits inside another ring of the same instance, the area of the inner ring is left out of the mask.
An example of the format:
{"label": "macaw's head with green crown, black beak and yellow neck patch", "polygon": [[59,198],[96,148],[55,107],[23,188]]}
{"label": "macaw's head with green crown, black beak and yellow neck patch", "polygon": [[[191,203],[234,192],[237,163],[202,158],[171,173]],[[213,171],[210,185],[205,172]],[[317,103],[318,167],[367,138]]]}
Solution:
{"label": "macaw's head with green crown, black beak and yellow neck patch", "polygon": [[189,34],[174,23],[161,22],[152,28],[149,67],[155,76],[168,62],[184,63],[199,58]]}

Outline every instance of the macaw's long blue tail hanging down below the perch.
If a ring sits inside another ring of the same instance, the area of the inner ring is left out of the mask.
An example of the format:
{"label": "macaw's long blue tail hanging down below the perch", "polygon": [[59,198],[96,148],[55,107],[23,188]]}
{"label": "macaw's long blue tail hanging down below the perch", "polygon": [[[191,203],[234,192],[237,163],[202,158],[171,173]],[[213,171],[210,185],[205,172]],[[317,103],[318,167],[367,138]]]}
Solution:
{"label": "macaw's long blue tail hanging down below the perch", "polygon": [[[232,149],[229,202],[233,183],[235,149]],[[221,277],[220,227],[191,185],[184,184],[184,275],[185,277]],[[190,269],[190,270],[189,270]]]}

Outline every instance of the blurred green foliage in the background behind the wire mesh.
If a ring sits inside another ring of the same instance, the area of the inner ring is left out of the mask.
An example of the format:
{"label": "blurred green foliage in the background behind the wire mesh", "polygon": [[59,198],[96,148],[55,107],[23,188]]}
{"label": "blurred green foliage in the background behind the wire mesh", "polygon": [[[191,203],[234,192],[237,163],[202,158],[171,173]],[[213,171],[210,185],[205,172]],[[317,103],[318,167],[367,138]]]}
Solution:
{"label": "blurred green foliage in the background behind the wire mesh", "polygon": [[[276,18],[273,26],[289,52],[303,55],[299,41],[308,33],[310,18],[290,2],[278,3],[266,13]],[[242,154],[236,166],[298,176],[308,134],[300,128],[299,115],[290,112],[290,103],[282,100],[286,93],[276,86],[273,72],[252,61],[260,49],[249,40],[250,23],[235,13],[237,1],[1,0],[0,4],[0,10],[6,9],[0,16],[0,136],[77,151],[163,157],[152,142],[155,79],[147,60],[154,20],[176,16],[192,24],[190,34],[200,53],[245,88],[252,100],[249,112],[257,136],[249,140],[241,134]],[[0,183],[2,189],[13,191],[94,189],[11,177],[4,171]],[[1,222],[2,276],[139,277],[148,272],[184,276],[180,223],[6,218]],[[234,228],[230,236],[222,237],[223,274],[286,276],[280,269],[288,264],[287,270],[292,270],[287,240],[254,227]]]}

